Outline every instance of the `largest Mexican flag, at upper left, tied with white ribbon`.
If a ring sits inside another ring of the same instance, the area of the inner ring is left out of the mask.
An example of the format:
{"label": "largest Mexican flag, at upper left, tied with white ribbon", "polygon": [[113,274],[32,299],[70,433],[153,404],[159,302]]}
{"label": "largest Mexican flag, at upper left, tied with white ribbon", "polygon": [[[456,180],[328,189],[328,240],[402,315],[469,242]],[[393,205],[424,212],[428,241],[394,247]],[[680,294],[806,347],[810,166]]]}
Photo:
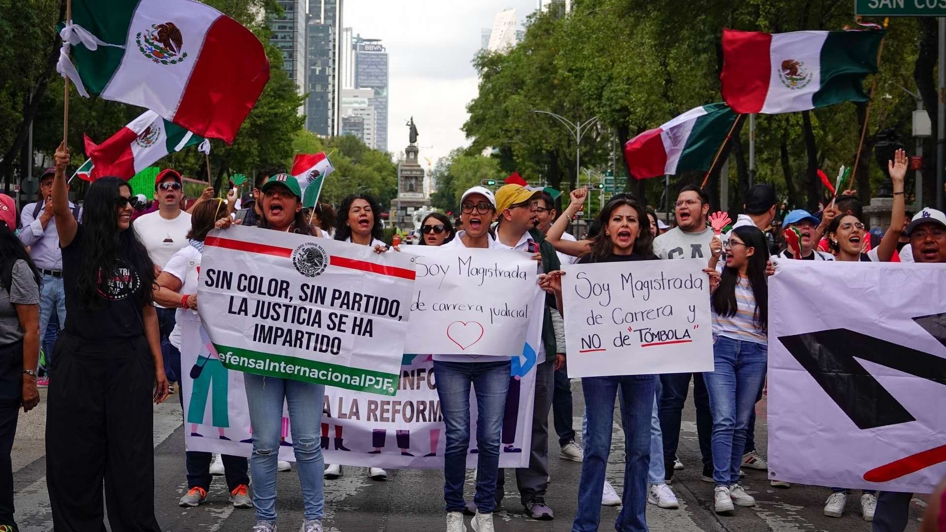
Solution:
{"label": "largest Mexican flag, at upper left, tied with white ribbon", "polygon": [[72,14],[57,68],[79,94],[150,109],[205,137],[232,143],[270,79],[254,34],[200,2],[72,0]]}

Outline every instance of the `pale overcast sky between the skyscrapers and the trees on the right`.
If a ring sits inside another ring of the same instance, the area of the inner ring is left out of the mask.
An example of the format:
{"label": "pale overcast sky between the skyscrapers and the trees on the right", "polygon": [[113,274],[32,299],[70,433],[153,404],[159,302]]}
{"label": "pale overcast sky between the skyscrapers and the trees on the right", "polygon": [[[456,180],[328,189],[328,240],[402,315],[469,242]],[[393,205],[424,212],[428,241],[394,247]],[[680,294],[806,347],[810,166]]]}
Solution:
{"label": "pale overcast sky between the skyscrapers and the trees on the right", "polygon": [[[471,60],[480,49],[481,29],[496,14],[515,8],[519,28],[536,0],[345,0],[342,23],[355,34],[381,39],[390,62],[388,151],[403,153],[413,115],[421,164],[467,146],[460,129],[466,103],[477,95]],[[432,147],[432,148],[430,148]],[[432,155],[432,156],[431,156]]]}

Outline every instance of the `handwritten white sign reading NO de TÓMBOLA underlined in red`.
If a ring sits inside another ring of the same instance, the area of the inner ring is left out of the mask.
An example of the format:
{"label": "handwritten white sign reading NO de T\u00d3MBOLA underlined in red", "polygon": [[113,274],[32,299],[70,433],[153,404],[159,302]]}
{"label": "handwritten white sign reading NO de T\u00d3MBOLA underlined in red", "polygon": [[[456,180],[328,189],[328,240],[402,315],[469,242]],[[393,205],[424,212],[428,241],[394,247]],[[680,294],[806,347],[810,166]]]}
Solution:
{"label": "handwritten white sign reading NO de T\u00d3MBOLA underlined in red", "polygon": [[712,371],[706,261],[565,265],[569,377]]}

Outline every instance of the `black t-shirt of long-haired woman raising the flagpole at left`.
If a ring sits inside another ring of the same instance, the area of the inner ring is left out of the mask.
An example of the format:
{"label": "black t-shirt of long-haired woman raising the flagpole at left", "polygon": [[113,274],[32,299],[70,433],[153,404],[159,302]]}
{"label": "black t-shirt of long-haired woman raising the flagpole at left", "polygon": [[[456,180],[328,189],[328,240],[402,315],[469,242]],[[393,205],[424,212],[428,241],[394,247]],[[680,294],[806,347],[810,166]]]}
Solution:
{"label": "black t-shirt of long-haired woman raising the flagpole at left", "polygon": [[[131,229],[129,229],[131,230]],[[79,305],[79,261],[85,248],[82,224],[76,238],[62,248],[62,284],[65,289],[65,329],[85,340],[132,338],[145,333],[142,303],[138,297],[141,276],[131,268],[128,250],[121,250],[111,272],[100,274],[101,305]]]}

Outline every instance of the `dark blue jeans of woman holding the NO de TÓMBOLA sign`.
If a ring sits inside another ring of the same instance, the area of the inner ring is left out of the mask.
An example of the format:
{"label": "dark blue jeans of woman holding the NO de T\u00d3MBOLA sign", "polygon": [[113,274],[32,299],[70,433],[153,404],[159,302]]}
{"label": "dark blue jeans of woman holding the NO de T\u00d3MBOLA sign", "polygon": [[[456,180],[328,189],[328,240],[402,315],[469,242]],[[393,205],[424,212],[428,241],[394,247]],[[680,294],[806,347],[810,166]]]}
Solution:
{"label": "dark blue jeans of woman holding the NO de T\u00d3MBOLA sign", "polygon": [[[572,532],[593,532],[601,521],[604,470],[611,451],[614,398],[620,398],[624,429],[624,488],[621,513],[614,527],[619,532],[647,532],[647,471],[650,465],[654,375],[585,377],[587,434],[581,482],[578,485],[578,513]],[[620,394],[619,394],[620,390]]]}

